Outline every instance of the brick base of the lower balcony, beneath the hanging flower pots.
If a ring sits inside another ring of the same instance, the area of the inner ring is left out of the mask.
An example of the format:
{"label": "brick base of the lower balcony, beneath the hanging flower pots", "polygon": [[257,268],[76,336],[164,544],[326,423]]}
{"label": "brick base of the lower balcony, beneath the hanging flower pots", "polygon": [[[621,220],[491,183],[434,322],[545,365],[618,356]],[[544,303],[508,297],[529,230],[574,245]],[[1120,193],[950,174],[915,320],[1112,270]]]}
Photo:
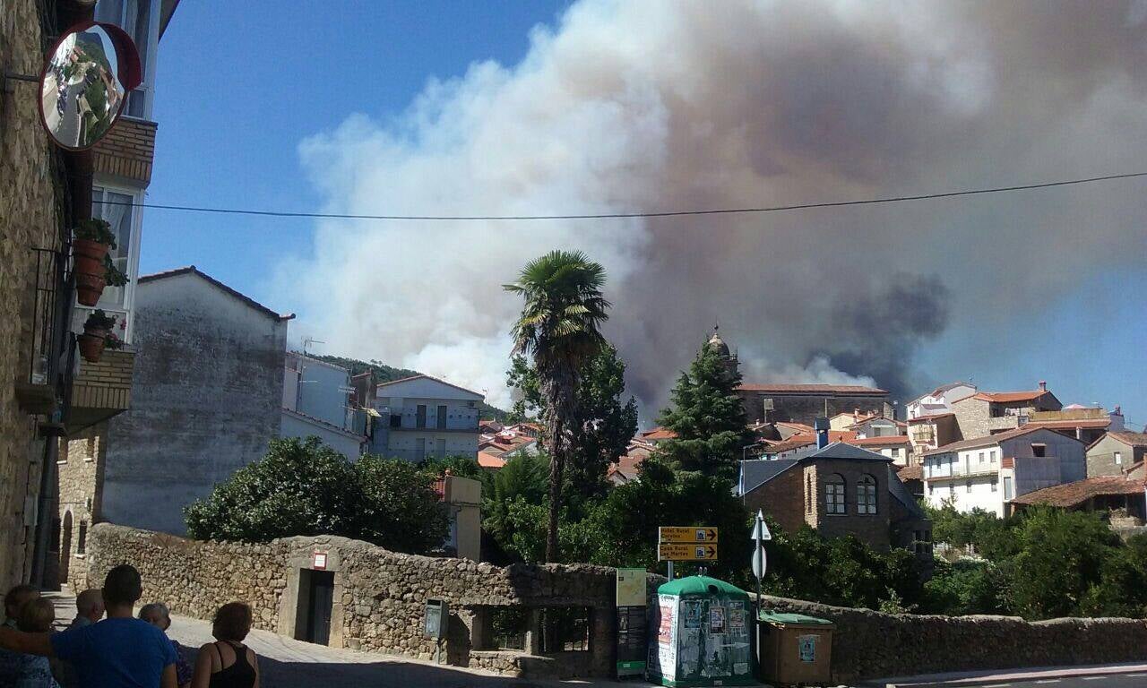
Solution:
{"label": "brick base of the lower balcony, beneath the hanging flower pots", "polygon": [[67,420],[69,433],[102,423],[131,407],[134,366],[135,352],[127,349],[104,351],[95,363],[79,360]]}

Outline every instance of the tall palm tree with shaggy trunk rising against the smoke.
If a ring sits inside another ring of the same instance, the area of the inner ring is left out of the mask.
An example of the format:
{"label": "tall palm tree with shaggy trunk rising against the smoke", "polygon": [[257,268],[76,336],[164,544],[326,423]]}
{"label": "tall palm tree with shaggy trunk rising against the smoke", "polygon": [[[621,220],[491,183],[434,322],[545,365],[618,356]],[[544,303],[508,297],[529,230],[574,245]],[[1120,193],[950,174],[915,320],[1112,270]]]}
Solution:
{"label": "tall palm tree with shaggy trunk rising against the smoke", "polygon": [[546,445],[549,451],[549,525],[546,561],[557,561],[557,514],[561,509],[562,471],[570,446],[571,428],[582,383],[582,365],[604,345],[599,327],[609,302],[601,295],[606,269],[580,251],[551,251],[522,268],[507,291],[525,300],[514,323],[514,353],[531,355],[541,383],[547,413]]}

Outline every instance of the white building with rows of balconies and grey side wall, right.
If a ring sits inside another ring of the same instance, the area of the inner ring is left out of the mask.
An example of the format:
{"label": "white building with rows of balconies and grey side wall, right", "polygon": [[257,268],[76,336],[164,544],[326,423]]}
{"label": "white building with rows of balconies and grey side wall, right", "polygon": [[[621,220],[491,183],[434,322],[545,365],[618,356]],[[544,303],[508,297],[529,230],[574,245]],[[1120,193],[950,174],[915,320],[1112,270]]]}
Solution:
{"label": "white building with rows of balconies and grey side wall, right", "polygon": [[1082,441],[1046,428],[955,441],[924,452],[924,499],[934,507],[950,502],[962,513],[1005,516],[1021,494],[1085,478],[1085,452]]}

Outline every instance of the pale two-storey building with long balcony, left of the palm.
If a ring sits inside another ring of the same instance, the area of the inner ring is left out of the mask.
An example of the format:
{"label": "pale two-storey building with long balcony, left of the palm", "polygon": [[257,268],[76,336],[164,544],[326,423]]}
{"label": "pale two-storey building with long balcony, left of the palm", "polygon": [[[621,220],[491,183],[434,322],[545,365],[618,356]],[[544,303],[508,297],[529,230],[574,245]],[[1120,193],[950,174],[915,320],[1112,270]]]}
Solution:
{"label": "pale two-storey building with long balcony, left of the palm", "polygon": [[370,453],[421,462],[478,454],[478,392],[429,375],[377,385]]}

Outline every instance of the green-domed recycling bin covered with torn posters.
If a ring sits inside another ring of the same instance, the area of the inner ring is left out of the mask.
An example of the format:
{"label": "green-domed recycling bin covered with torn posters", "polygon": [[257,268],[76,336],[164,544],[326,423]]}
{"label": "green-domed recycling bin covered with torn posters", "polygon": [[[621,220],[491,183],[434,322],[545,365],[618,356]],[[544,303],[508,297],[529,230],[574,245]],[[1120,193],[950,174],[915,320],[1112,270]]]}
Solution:
{"label": "green-domed recycling bin covered with torn posters", "polygon": [[662,585],[649,626],[649,680],[671,687],[756,683],[751,620],[748,593],[724,580],[690,576]]}

